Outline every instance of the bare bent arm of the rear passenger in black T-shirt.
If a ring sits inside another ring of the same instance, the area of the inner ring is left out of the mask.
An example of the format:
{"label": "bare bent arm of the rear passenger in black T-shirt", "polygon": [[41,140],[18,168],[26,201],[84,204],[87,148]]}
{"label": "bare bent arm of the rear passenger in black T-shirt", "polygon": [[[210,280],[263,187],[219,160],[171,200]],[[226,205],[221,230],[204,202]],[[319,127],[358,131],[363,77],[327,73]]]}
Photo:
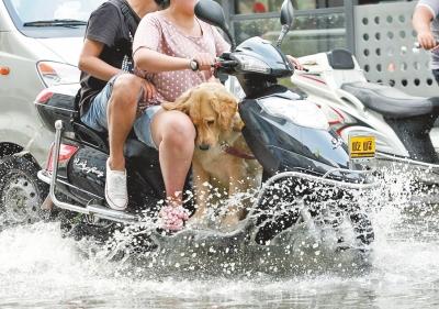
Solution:
{"label": "bare bent arm of the rear passenger in black T-shirt", "polygon": [[122,70],[106,64],[99,58],[103,47],[104,44],[98,41],[86,38],[79,56],[78,67],[80,70],[87,71],[95,78],[109,81],[114,75],[121,73]]}

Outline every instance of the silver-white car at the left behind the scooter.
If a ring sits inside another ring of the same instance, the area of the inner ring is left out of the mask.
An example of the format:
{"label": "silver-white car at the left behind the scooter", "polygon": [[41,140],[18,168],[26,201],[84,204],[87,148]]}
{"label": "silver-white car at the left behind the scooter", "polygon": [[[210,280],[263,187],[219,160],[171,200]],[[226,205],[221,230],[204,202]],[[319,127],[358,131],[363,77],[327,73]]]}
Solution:
{"label": "silver-white car at the left behind the scooter", "polygon": [[47,195],[36,173],[50,132],[33,101],[46,87],[77,84],[90,12],[103,0],[0,1],[0,213],[33,221]]}

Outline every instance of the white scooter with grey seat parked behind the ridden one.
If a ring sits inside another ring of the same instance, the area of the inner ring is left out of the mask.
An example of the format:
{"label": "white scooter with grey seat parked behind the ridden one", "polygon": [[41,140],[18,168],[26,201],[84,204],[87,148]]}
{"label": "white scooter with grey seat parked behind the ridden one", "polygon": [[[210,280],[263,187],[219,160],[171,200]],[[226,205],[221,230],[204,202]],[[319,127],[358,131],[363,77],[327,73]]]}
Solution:
{"label": "white scooter with grey seat parked behind the ridden one", "polygon": [[306,70],[292,81],[327,114],[344,139],[376,139],[376,165],[397,165],[419,180],[439,184],[439,156],[430,131],[439,97],[412,97],[391,86],[368,82],[356,57],[335,49],[300,58]]}

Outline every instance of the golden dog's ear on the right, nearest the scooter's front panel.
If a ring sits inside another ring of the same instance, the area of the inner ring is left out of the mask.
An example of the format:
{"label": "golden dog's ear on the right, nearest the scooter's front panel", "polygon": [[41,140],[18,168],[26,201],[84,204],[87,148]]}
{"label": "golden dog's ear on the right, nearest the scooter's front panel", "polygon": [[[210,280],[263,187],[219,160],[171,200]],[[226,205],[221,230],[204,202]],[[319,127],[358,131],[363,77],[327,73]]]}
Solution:
{"label": "golden dog's ear on the right, nearest the scooter's front panel", "polygon": [[238,101],[225,89],[215,91],[215,99],[212,101],[212,107],[218,114],[218,124],[224,131],[232,131],[234,118],[238,111]]}

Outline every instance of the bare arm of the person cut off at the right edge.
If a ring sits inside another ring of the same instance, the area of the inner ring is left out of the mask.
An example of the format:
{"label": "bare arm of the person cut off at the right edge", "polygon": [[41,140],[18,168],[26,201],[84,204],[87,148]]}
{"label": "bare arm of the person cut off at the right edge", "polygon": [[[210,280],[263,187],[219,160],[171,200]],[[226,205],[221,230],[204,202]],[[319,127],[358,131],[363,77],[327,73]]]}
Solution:
{"label": "bare arm of the person cut off at the right edge", "polygon": [[435,18],[432,9],[427,5],[417,5],[413,15],[413,26],[418,33],[418,42],[425,49],[434,48],[437,43],[430,29],[430,22]]}

